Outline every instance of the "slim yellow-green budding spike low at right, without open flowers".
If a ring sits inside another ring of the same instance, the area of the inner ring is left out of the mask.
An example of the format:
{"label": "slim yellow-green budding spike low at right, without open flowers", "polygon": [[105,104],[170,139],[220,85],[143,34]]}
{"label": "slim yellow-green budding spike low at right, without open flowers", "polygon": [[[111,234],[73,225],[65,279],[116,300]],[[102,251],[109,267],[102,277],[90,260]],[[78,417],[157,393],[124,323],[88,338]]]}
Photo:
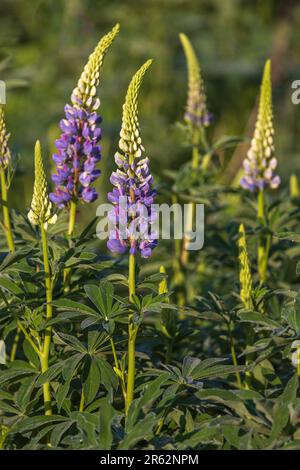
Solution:
{"label": "slim yellow-green budding spike low at right, without open flowers", "polygon": [[252,277],[247,252],[246,233],[243,224],[241,224],[239,228],[238,246],[240,262],[240,297],[244,307],[248,310],[251,310]]}

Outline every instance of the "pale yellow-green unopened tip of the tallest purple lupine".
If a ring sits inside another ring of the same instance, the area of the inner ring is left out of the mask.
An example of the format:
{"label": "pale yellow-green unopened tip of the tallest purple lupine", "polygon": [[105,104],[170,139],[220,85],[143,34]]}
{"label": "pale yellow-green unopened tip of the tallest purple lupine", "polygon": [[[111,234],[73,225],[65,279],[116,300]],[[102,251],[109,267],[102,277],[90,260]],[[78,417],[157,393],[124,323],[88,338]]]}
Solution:
{"label": "pale yellow-green unopened tip of the tallest purple lupine", "polygon": [[108,51],[113,40],[120,30],[120,25],[116,24],[114,28],[103,36],[85,65],[80,79],[78,80],[77,87],[72,93],[72,103],[74,106],[86,105],[92,109],[98,108],[99,100],[93,101],[96,95],[96,88],[99,84],[100,70],[102,67],[103,59]]}

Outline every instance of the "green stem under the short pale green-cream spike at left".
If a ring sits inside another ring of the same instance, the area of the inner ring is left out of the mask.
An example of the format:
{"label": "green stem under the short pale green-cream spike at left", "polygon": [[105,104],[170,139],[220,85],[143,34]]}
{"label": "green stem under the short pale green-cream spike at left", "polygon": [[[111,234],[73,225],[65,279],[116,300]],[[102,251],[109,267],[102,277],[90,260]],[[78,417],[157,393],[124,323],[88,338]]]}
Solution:
{"label": "green stem under the short pale green-cream spike at left", "polygon": [[[43,248],[43,258],[44,258],[44,272],[45,272],[45,287],[46,287],[46,320],[51,320],[52,318],[52,283],[51,283],[51,272],[50,272],[50,263],[48,257],[48,244],[46,231],[43,224],[41,224],[41,236],[42,236],[42,248]],[[45,329],[45,338],[43,350],[40,354],[40,363],[42,373],[46,372],[49,368],[49,355],[50,355],[50,346],[51,346],[51,333],[52,327],[47,326]],[[44,395],[44,404],[45,404],[45,414],[51,415],[51,393],[50,393],[50,382],[46,382],[43,385],[43,395]]]}

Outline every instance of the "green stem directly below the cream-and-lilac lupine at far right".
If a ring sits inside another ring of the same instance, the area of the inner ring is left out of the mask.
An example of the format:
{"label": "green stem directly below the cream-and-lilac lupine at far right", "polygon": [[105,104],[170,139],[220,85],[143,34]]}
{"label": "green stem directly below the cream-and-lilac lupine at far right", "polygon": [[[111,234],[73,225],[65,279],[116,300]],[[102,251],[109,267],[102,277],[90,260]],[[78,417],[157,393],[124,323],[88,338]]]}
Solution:
{"label": "green stem directly below the cream-and-lilac lupine at far right", "polygon": [[[260,225],[265,225],[265,200],[264,190],[258,192],[257,197],[257,219]],[[261,283],[264,283],[267,278],[268,258],[271,245],[271,236],[261,234],[258,240],[257,249],[257,263],[258,263],[258,276]]]}

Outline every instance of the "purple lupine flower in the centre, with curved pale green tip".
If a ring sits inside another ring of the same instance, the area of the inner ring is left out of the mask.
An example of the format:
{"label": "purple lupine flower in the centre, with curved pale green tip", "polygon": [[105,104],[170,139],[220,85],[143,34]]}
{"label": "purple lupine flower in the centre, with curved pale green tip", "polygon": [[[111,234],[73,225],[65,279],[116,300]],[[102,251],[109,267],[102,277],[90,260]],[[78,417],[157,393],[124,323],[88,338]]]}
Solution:
{"label": "purple lupine flower in the centre, with curved pale green tip", "polygon": [[[114,189],[108,194],[109,201],[114,205],[109,217],[116,223],[109,236],[108,248],[117,253],[125,253],[127,249],[130,254],[140,252],[144,258],[148,258],[157,245],[156,239],[147,237],[149,225],[155,219],[151,204],[156,191],[152,188],[149,159],[143,157],[137,99],[143,76],[151,62],[147,61],[136,72],[128,87],[119,141],[121,152],[115,154],[118,169],[111,175]],[[120,204],[120,198],[125,199],[125,207]],[[120,226],[124,225],[125,229],[120,230]]]}

